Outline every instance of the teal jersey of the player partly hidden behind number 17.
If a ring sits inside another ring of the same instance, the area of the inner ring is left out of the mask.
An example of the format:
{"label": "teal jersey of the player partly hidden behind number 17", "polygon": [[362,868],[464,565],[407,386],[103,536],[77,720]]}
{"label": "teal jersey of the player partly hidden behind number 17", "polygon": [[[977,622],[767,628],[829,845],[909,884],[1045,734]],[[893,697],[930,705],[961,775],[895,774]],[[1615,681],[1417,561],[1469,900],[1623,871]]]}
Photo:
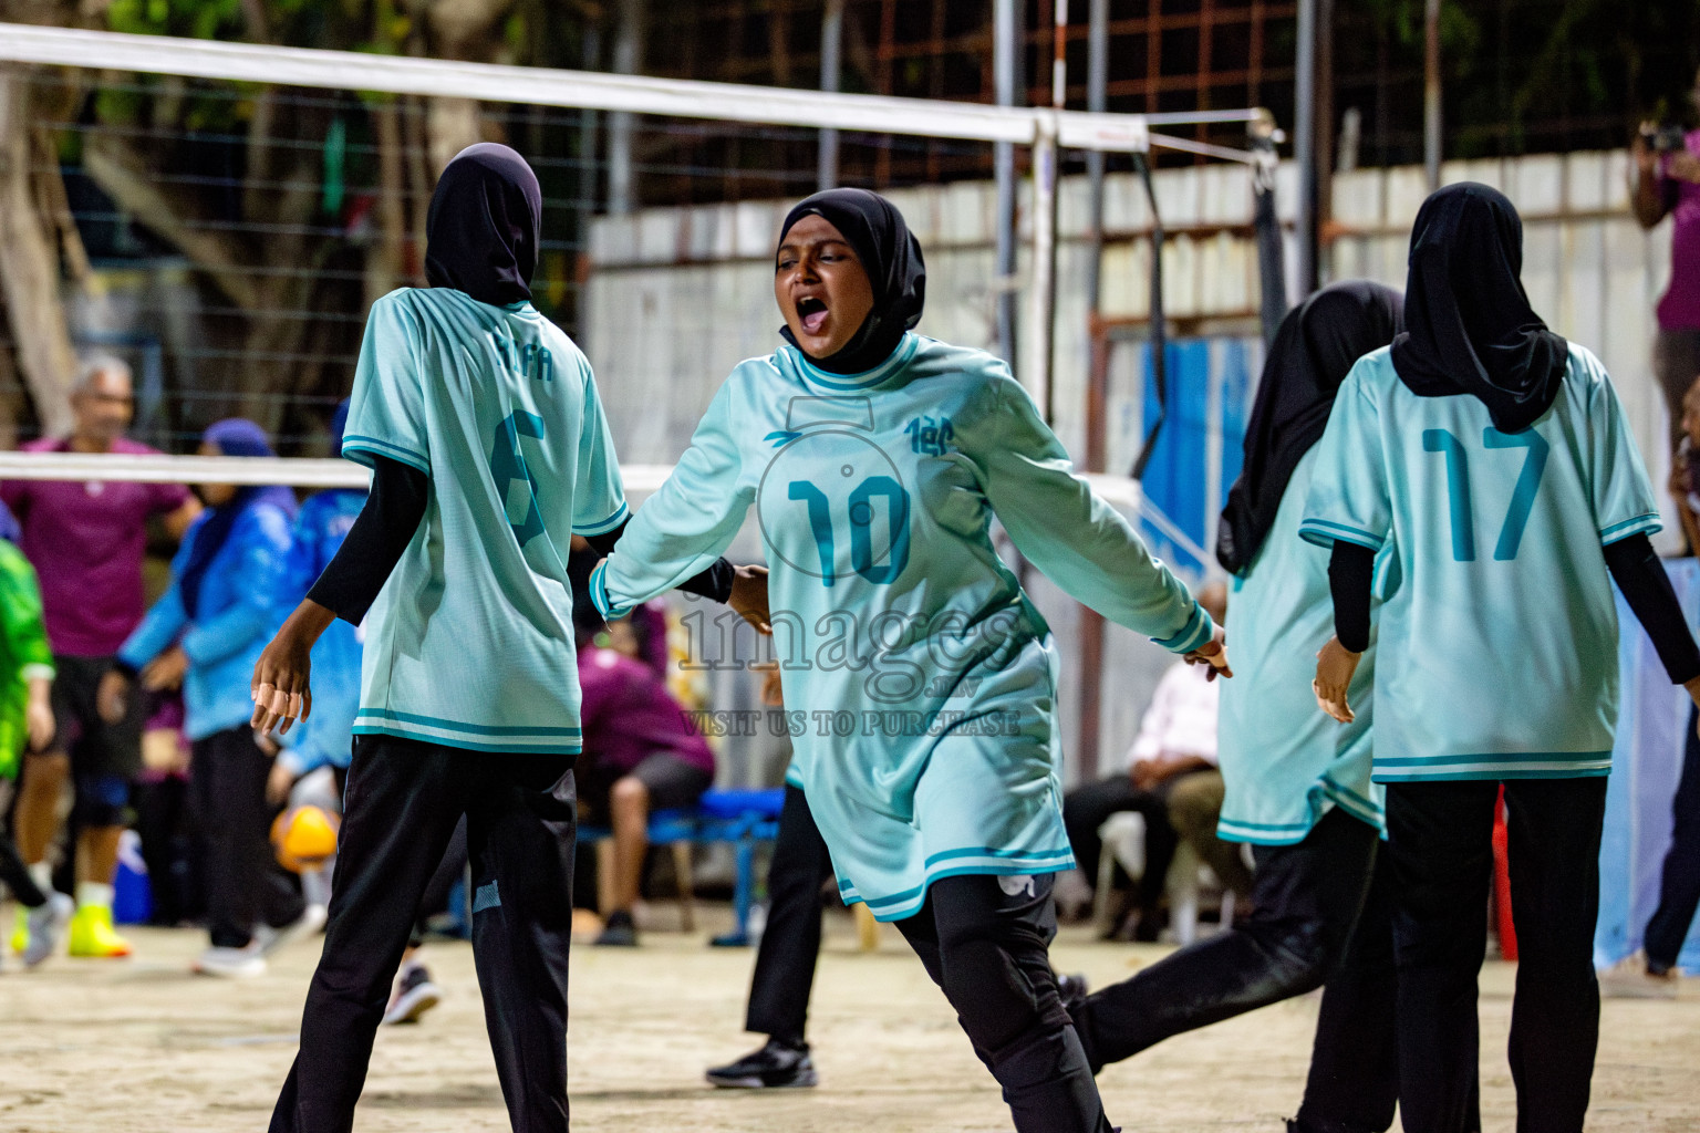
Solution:
{"label": "teal jersey of the player partly hidden behind number 17", "polygon": [[[1316,651],[1334,634],[1328,552],[1299,537],[1316,455],[1312,445],[1294,469],[1275,523],[1234,578],[1227,603],[1234,679],[1222,685],[1217,754],[1226,795],[1217,834],[1236,843],[1290,846],[1333,807],[1377,831],[1384,826],[1384,792],[1370,781],[1374,642],[1352,679],[1352,724],[1329,719],[1311,691]],[[1382,552],[1377,567],[1387,562]]]}

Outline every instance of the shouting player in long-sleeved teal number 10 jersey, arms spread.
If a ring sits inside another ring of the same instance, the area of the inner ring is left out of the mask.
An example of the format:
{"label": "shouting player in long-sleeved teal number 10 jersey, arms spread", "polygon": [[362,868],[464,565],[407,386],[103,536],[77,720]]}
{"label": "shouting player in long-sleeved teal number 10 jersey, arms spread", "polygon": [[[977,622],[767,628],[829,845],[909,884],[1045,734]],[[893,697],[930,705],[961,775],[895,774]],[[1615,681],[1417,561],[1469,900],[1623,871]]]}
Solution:
{"label": "shouting player in long-sleeved teal number 10 jersey, arms spread", "polygon": [[1073,865],[1051,630],[991,521],[1066,591],[1226,668],[1219,630],[1073,474],[1005,364],[910,331],[920,245],[840,189],[785,221],[789,343],[738,365],[592,576],[619,615],[702,569],[755,508],[796,768],[847,902],[896,921],[1022,1133],[1108,1130],[1046,958]]}

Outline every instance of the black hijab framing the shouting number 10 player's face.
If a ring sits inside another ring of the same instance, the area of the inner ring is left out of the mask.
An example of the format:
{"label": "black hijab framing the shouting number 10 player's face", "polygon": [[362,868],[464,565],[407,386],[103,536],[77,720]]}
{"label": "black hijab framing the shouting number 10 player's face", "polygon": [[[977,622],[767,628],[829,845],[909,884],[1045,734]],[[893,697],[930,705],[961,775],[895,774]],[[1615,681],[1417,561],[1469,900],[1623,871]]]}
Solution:
{"label": "black hijab framing the shouting number 10 player's face", "polygon": [[[785,214],[779,243],[785,243],[785,234],[806,216],[818,216],[843,233],[874,285],[874,309],[838,353],[830,358],[802,353],[830,374],[865,374],[889,358],[903,333],[921,321],[926,302],[921,245],[903,223],[898,206],[865,189],[828,189],[799,202]],[[802,350],[789,326],[779,333]]]}

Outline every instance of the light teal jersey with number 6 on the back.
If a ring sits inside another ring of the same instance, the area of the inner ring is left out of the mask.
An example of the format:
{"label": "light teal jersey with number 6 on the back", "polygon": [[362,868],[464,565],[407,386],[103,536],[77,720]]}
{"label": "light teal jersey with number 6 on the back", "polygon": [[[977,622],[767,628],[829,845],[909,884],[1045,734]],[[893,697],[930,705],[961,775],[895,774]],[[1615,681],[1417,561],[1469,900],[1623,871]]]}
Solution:
{"label": "light teal jersey with number 6 on the back", "polygon": [[626,518],[585,355],[527,302],[391,292],[372,304],[342,452],[430,477],[367,615],[354,734],[576,753],[568,544]]}

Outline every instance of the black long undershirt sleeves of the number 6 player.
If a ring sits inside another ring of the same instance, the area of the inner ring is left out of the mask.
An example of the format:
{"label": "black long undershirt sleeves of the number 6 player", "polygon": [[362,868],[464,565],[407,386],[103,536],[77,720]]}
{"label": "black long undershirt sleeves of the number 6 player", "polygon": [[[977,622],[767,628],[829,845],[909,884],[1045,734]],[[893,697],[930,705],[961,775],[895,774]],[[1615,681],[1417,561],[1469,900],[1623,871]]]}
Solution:
{"label": "black long undershirt sleeves of the number 6 player", "polygon": [[[338,618],[359,625],[377,600],[377,591],[389,581],[401,554],[413,540],[425,518],[430,498],[430,481],[418,469],[376,457],[372,460],[372,491],[348,528],[347,538],[332,557],[325,572],[313,583],[308,598],[325,606]],[[614,550],[622,523],[612,532],[590,537],[597,554]],[[707,571],[680,583],[680,589],[714,601],[726,601],[733,593],[733,564],[717,559]]]}

